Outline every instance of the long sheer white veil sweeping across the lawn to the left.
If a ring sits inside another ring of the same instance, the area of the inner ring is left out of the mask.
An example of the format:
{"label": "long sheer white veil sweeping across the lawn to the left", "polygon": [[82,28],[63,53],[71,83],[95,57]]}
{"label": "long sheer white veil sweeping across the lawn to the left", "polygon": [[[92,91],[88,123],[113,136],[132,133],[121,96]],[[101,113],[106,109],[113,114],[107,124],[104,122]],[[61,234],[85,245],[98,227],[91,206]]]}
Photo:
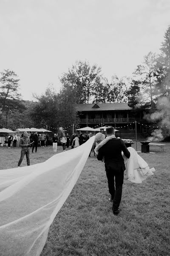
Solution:
{"label": "long sheer white veil sweeping across the lawn to the left", "polygon": [[0,256],[40,255],[94,138],[44,163],[0,171]]}

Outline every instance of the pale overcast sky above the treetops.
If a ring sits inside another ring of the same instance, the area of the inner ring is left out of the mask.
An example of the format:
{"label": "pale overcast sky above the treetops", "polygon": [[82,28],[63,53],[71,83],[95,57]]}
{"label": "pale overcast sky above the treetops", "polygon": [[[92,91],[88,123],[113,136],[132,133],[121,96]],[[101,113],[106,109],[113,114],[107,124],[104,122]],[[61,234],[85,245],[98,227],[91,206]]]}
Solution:
{"label": "pale overcast sky above the treetops", "polygon": [[59,89],[76,60],[131,76],[168,25],[170,0],[0,0],[0,71],[17,73],[25,100]]}

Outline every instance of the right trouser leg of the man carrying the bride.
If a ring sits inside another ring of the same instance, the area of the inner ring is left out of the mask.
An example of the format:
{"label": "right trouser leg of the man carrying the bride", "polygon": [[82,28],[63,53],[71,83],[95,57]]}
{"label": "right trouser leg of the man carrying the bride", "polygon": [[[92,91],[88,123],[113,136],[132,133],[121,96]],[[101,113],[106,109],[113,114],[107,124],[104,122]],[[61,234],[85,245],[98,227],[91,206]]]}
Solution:
{"label": "right trouser leg of the man carrying the bride", "polygon": [[124,179],[124,171],[121,168],[119,171],[115,172],[115,194],[113,199],[113,212],[117,211],[119,208],[119,204],[122,198],[122,185]]}

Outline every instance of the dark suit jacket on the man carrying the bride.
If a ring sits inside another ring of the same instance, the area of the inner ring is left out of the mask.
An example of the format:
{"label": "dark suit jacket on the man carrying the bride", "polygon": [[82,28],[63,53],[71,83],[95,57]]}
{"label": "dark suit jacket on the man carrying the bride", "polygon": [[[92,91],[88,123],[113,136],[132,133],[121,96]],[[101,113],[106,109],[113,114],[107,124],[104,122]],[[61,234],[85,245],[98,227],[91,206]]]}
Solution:
{"label": "dark suit jacket on the man carrying the bride", "polygon": [[122,151],[124,155],[129,158],[130,152],[127,150],[125,143],[121,139],[113,138],[109,140],[105,145],[99,148],[98,160],[105,158],[105,168],[125,171],[125,163],[122,157]]}

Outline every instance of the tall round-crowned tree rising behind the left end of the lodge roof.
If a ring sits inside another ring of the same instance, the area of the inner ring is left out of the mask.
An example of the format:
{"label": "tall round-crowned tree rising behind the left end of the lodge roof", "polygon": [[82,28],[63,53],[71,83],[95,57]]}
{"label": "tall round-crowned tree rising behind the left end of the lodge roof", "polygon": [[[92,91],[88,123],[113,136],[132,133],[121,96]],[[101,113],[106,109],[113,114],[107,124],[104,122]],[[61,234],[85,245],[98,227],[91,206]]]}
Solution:
{"label": "tall round-crowned tree rising behind the left end of the lodge roof", "polygon": [[101,67],[97,67],[96,64],[91,67],[88,61],[76,61],[71,70],[63,73],[60,81],[63,87],[71,87],[76,103],[89,103],[101,78]]}

